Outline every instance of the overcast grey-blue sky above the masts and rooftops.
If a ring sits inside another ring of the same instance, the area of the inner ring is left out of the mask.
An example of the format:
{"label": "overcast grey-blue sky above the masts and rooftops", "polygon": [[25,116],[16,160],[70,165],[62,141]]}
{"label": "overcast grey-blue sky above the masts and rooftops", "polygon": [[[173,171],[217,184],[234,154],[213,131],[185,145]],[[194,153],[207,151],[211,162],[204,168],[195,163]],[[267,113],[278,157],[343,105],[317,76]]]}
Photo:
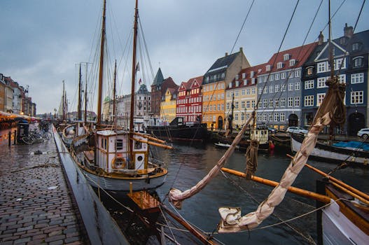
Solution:
{"label": "overcast grey-blue sky above the masts and rooftops", "polygon": [[[354,26],[361,8],[361,1],[343,2],[333,19],[333,38],[342,36],[344,23]],[[160,66],[165,78],[171,76],[178,85],[202,76],[216,59],[231,52],[251,3],[251,0],[139,1],[139,16],[154,75]],[[255,0],[233,52],[243,47],[252,66],[267,62],[281,44],[296,3],[296,0]],[[302,45],[320,3],[321,0],[298,3],[281,50]],[[332,0],[332,14],[341,3],[342,0]],[[107,0],[107,8],[109,58],[119,62],[119,93],[129,94],[126,80],[131,75],[130,68],[125,68],[127,58],[123,50],[131,38],[134,0]],[[65,80],[70,106],[74,107],[71,110],[75,110],[76,64],[95,62],[102,1],[1,0],[0,9],[0,73],[24,87],[29,85],[29,96],[36,103],[37,113],[59,107]],[[356,32],[369,29],[368,20],[369,6],[365,3]],[[323,0],[307,43],[316,40],[327,22],[328,0]],[[327,28],[323,34],[328,38]],[[148,67],[141,66],[141,72]],[[123,76],[125,73],[127,76]],[[145,83],[150,89],[152,78],[146,76]],[[92,88],[88,90],[91,92]]]}

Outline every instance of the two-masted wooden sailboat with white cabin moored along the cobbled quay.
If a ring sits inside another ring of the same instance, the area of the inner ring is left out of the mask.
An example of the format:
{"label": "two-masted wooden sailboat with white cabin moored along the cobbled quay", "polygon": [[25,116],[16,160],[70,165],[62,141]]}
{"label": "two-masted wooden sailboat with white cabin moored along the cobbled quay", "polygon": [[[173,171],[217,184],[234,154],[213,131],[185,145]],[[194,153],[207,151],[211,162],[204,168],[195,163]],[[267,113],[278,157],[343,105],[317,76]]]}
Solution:
{"label": "two-masted wooden sailboat with white cabin moored along the cobbled quay", "polygon": [[136,1],[134,15],[134,39],[132,58],[132,93],[130,110],[130,130],[120,130],[116,127],[104,127],[101,124],[102,115],[102,78],[104,67],[105,41],[105,11],[106,0],[102,13],[102,40],[100,47],[99,97],[97,104],[97,125],[92,132],[92,148],[78,151],[74,138],[71,144],[71,155],[78,166],[88,177],[90,184],[104,190],[128,191],[152,189],[161,186],[167,176],[167,168],[162,162],[150,158],[151,145],[170,148],[164,141],[150,137],[148,134],[134,132],[134,83],[137,43],[138,2]]}

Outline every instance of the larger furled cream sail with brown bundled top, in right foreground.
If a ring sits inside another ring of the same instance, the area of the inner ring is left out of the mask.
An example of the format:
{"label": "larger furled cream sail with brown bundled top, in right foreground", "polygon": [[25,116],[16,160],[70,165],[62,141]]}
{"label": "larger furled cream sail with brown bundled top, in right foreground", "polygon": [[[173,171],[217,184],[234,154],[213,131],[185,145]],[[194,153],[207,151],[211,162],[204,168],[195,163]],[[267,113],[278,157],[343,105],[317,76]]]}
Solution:
{"label": "larger furled cream sail with brown bundled top, in right foreground", "polygon": [[[300,173],[301,169],[305,166],[307,158],[312,153],[319,132],[323,130],[326,125],[338,125],[344,123],[344,85],[337,82],[337,78],[332,78],[327,81],[329,86],[326,97],[324,98],[321,106],[316,112],[314,123],[309,129],[307,137],[302,142],[300,151],[296,153],[290,165],[287,167],[284,175],[282,176],[279,185],[276,186],[272,193],[264,200],[256,209],[245,216],[239,216],[238,208],[225,208],[219,209],[222,221],[219,225],[218,232],[239,232],[241,230],[249,230],[256,228],[262,223],[265,218],[273,213],[274,207],[281,203],[286,195],[288,187],[290,187],[295,181],[296,177]],[[342,119],[343,118],[343,119]]]}

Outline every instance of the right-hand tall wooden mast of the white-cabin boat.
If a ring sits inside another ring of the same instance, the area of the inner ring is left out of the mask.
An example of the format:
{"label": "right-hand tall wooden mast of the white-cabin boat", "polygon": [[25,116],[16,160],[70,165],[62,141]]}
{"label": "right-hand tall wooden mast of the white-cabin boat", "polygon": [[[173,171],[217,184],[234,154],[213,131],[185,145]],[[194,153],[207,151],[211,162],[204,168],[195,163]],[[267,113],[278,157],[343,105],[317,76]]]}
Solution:
{"label": "right-hand tall wooden mast of the white-cabin boat", "polygon": [[[139,16],[139,3],[136,0],[136,7],[134,8],[134,27],[133,27],[133,55],[132,55],[132,81],[131,81],[131,106],[130,106],[130,138],[134,132],[134,85],[136,83],[136,45],[137,45],[137,19]],[[133,155],[133,140],[130,140],[130,153],[132,166],[134,166],[134,155]]]}

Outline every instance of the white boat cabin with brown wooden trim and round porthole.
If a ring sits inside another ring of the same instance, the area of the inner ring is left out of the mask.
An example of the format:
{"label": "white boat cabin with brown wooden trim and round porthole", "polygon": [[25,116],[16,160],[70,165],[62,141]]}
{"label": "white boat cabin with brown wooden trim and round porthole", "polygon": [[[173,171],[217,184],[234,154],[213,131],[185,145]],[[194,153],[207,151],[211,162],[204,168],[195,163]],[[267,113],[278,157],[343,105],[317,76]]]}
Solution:
{"label": "white boat cabin with brown wooden trim and round porthole", "polygon": [[[95,162],[106,172],[119,170],[139,170],[148,167],[148,144],[133,141],[132,155],[129,149],[127,131],[103,130],[96,134]],[[144,137],[132,136],[134,139],[146,141]]]}

